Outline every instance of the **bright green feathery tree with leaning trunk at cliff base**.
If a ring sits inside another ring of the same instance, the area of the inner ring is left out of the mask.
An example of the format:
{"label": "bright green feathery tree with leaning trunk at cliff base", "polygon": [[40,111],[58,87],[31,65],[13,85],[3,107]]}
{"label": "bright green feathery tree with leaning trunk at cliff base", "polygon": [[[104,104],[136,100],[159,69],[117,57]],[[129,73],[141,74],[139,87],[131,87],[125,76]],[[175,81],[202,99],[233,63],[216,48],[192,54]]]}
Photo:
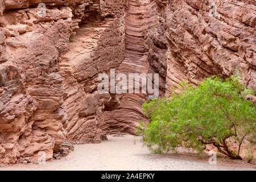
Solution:
{"label": "bright green feathery tree with leaning trunk at cliff base", "polygon": [[[243,97],[254,94],[240,84],[238,76],[225,80],[218,76],[207,78],[197,88],[181,82],[179,93],[143,104],[150,118],[147,126],[141,122],[137,134],[153,152],[175,151],[183,146],[201,154],[206,144],[213,144],[222,154],[242,159],[241,144],[247,139],[255,143],[255,104]],[[227,144],[228,139],[239,143],[237,151]]]}

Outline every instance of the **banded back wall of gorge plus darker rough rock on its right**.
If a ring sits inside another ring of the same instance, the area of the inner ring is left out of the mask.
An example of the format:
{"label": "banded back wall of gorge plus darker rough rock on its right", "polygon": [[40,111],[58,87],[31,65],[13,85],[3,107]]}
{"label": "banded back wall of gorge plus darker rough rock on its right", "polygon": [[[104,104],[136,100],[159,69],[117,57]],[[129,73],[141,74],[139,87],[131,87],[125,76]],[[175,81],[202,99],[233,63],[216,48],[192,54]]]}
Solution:
{"label": "banded back wall of gorge plus darker rough rock on its right", "polygon": [[[117,72],[124,73],[127,78],[129,73],[160,73],[159,92],[163,96],[167,40],[163,38],[164,30],[155,27],[161,25],[159,20],[161,19],[154,1],[127,1],[125,59]],[[141,109],[142,104],[148,100],[148,93],[117,94],[117,98],[118,105],[104,112],[102,130],[108,134],[135,134],[138,121],[148,122]]]}

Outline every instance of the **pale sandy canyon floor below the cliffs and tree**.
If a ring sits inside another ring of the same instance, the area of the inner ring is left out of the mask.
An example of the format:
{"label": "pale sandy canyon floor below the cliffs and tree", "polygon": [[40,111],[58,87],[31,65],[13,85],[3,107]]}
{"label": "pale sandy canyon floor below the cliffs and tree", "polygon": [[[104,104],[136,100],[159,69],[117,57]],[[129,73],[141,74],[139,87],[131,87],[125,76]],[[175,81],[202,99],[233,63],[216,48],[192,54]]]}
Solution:
{"label": "pale sandy canyon floor below the cliffs and tree", "polygon": [[[139,137],[108,136],[100,144],[75,146],[75,151],[63,159],[44,165],[14,164],[1,170],[256,170],[254,164],[228,158],[217,159],[216,165],[208,164],[208,156],[199,159],[192,154],[150,154],[142,147]],[[135,140],[135,144],[134,144]]]}

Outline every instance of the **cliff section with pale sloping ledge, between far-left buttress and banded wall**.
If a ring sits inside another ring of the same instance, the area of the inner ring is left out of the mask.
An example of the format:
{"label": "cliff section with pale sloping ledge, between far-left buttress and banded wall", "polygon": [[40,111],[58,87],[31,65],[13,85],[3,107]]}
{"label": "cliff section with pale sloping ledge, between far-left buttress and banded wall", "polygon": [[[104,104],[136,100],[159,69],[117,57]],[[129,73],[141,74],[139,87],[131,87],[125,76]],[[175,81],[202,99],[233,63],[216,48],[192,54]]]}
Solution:
{"label": "cliff section with pale sloping ledge, between far-left buttress and banded wall", "polygon": [[64,98],[68,123],[64,128],[67,139],[79,143],[101,142],[105,134],[101,130],[105,125],[102,115],[112,98],[110,94],[98,93],[97,77],[117,68],[125,49],[124,1],[118,5],[107,1],[96,5],[93,7],[99,9],[89,11],[80,20],[79,30],[70,39],[69,51],[61,55],[60,61],[60,74],[68,92]]}

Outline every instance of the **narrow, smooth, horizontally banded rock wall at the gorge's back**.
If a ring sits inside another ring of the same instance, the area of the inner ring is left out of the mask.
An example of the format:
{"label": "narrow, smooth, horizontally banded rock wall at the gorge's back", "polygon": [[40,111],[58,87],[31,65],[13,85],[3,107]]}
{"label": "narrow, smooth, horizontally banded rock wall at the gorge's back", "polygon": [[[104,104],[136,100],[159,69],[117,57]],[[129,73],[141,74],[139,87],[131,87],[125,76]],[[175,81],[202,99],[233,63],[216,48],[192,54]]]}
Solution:
{"label": "narrow, smooth, horizontally banded rock wall at the gorge's back", "polygon": [[[125,13],[125,60],[118,67],[118,73],[127,76],[129,73],[147,74],[150,67],[147,61],[147,52],[144,47],[143,33],[147,28],[147,21],[144,14],[150,5],[148,0],[128,0]],[[131,85],[129,85],[131,86]],[[120,94],[119,107],[113,111],[105,111],[104,120],[106,127],[104,130],[110,133],[121,131],[122,133],[134,134],[138,121],[147,121],[141,110],[142,104],[146,101],[147,94]]]}

